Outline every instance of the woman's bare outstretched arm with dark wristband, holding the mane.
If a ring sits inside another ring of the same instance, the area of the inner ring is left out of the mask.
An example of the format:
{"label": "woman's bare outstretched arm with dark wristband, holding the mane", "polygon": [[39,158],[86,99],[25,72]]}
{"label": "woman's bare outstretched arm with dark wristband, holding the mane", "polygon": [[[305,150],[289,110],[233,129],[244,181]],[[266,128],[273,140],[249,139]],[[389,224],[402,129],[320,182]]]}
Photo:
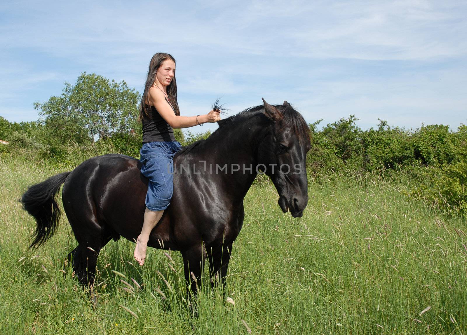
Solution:
{"label": "woman's bare outstretched arm with dark wristband, holding the mane", "polygon": [[149,89],[148,99],[149,102],[151,102],[151,104],[156,107],[157,112],[159,112],[163,119],[172,128],[188,128],[197,126],[198,122],[200,125],[202,125],[206,122],[217,122],[220,120],[219,112],[215,111],[210,111],[207,114],[199,115],[198,122],[196,121],[196,116],[175,115],[169,103],[167,100],[165,100],[163,91],[154,86]]}

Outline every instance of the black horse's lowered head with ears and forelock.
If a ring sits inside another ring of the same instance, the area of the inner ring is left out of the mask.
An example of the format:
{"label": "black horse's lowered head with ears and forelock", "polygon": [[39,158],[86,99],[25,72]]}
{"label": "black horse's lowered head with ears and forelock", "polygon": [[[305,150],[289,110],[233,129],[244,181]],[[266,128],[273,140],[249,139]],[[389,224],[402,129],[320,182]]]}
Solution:
{"label": "black horse's lowered head with ears and forelock", "polygon": [[272,106],[264,101],[268,118],[264,138],[258,148],[258,163],[264,164],[279,194],[279,206],[293,217],[301,217],[308,203],[306,153],[310,150],[310,133],[303,117],[284,101]]}

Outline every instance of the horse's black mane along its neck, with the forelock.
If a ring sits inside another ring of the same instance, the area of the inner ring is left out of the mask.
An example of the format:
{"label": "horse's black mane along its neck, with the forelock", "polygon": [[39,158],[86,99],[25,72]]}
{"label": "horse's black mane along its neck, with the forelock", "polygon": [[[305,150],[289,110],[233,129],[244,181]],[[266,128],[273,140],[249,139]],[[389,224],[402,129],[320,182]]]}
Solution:
{"label": "horse's black mane along its neck, with the forelock", "polygon": [[[297,135],[298,141],[300,143],[302,143],[303,141],[310,142],[310,128],[308,127],[307,123],[300,115],[300,113],[293,109],[292,105],[290,105],[289,103],[285,103],[285,105],[273,105],[273,107],[276,107],[281,112],[283,116],[283,126],[291,126],[294,133]],[[250,119],[255,115],[262,114],[263,110],[264,105],[257,105],[254,107],[247,108],[244,111],[239,112],[238,114],[228,117],[227,119],[222,119],[217,122],[219,128],[216,129],[214,133],[211,134],[211,136],[214,136],[214,134],[216,133],[228,131],[229,128],[232,128],[237,123],[242,122],[246,119]],[[193,150],[193,148],[203,145],[204,142],[205,140],[198,140],[186,147],[183,147],[178,153],[186,154]]]}

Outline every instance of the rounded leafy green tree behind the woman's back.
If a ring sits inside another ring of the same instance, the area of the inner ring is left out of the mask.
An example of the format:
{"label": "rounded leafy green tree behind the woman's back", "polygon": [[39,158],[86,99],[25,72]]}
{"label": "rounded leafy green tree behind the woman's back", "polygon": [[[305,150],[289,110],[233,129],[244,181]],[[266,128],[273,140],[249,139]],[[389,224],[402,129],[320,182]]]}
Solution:
{"label": "rounded leafy green tree behind the woman's back", "polygon": [[114,134],[130,133],[137,125],[138,91],[125,81],[83,72],[72,85],[65,82],[59,97],[34,104],[48,136],[76,143],[109,139]]}

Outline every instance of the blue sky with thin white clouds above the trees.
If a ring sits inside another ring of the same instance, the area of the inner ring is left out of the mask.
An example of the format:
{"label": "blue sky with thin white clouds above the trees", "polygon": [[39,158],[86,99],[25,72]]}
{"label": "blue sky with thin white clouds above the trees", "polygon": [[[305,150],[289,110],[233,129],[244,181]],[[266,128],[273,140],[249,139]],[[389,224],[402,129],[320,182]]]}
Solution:
{"label": "blue sky with thin white clouds above the trees", "polygon": [[[405,128],[467,123],[466,1],[5,1],[0,116],[81,72],[138,91],[151,56],[177,60],[182,115],[289,101],[321,125],[354,114]],[[192,132],[216,125],[190,128]]]}

